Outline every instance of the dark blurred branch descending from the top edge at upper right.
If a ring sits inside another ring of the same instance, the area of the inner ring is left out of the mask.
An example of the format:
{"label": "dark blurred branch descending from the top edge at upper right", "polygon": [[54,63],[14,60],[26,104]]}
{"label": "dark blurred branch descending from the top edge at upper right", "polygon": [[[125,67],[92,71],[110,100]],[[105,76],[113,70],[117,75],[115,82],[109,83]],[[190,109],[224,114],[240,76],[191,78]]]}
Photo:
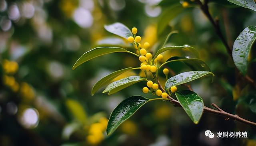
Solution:
{"label": "dark blurred branch descending from the top edge at upper right", "polygon": [[[209,8],[208,8],[208,0],[204,0],[204,4],[200,0],[196,0],[196,3],[198,3],[202,12],[205,14],[205,16],[208,18],[208,20],[214,26],[216,34],[220,37],[220,40],[222,41],[222,43],[226,47],[226,50],[227,50],[228,54],[232,58],[232,48],[228,45],[227,41],[225,40],[225,38],[224,38],[224,36],[223,36],[223,34],[220,30],[218,19],[216,19],[216,21],[215,21],[212,18],[212,15],[210,14]],[[236,67],[235,67],[235,69],[238,70]],[[238,73],[240,73],[240,71],[238,71]],[[241,73],[240,73],[240,75],[241,75]],[[248,81],[250,84],[252,84],[252,86],[254,86],[254,88],[256,89],[256,82],[252,78],[250,78],[248,75],[246,75],[246,76],[242,75],[242,77],[246,81]]]}

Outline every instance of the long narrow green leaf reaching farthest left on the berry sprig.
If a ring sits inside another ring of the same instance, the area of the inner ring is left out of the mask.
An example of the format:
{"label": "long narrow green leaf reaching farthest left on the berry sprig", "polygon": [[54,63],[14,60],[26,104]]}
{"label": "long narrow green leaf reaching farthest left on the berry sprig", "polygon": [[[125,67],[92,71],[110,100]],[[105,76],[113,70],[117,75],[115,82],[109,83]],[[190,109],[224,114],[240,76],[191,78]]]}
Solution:
{"label": "long narrow green leaf reaching farthest left on the berry sprig", "polygon": [[[132,53],[130,51],[127,51],[126,49],[120,48],[120,47],[96,47],[86,53],[84,53],[74,64],[73,70],[81,65],[82,63],[89,61],[90,59],[93,59],[95,57],[99,57],[105,54],[109,53],[115,53],[115,52],[127,52],[131,53],[133,55],[136,55],[135,53]],[[136,55],[138,56],[138,55]]]}

